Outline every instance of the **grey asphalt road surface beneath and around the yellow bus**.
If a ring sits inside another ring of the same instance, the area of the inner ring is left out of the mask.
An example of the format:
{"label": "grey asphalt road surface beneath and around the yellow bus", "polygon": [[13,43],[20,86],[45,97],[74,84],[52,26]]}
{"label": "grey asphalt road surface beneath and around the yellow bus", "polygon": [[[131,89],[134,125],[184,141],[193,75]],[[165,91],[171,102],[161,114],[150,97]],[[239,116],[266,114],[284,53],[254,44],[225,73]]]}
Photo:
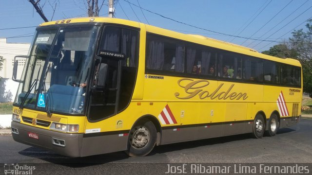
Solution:
{"label": "grey asphalt road surface beneath and around the yellow bus", "polygon": [[[51,169],[71,168],[71,171],[79,170],[81,174],[91,170],[104,171],[112,165],[116,169],[124,168],[126,164],[120,162],[312,163],[311,136],[312,119],[302,119],[296,126],[280,129],[274,137],[252,139],[249,134],[244,134],[162,145],[147,157],[127,157],[123,152],[117,152],[79,158],[59,156],[15,142],[11,136],[0,136],[0,163],[49,163],[47,165]],[[136,166],[142,168],[141,164]]]}

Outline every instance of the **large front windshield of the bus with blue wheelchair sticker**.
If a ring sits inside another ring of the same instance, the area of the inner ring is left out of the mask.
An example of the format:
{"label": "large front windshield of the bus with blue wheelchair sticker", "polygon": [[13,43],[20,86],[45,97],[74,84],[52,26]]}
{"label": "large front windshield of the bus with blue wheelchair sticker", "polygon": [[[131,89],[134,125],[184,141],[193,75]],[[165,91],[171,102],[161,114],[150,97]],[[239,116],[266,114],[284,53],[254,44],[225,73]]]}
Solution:
{"label": "large front windshield of the bus with blue wheelchair sticker", "polygon": [[84,114],[98,26],[39,29],[14,104]]}

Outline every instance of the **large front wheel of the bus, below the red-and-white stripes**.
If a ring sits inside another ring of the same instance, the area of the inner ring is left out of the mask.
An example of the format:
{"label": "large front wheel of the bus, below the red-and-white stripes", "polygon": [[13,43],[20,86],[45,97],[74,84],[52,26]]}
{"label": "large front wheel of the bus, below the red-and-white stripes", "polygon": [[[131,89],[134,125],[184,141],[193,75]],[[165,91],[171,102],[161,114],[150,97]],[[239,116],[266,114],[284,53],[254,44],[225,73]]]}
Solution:
{"label": "large front wheel of the bus, below the red-and-white stripes", "polygon": [[131,157],[146,156],[153,150],[156,138],[154,123],[143,120],[131,129],[126,153]]}

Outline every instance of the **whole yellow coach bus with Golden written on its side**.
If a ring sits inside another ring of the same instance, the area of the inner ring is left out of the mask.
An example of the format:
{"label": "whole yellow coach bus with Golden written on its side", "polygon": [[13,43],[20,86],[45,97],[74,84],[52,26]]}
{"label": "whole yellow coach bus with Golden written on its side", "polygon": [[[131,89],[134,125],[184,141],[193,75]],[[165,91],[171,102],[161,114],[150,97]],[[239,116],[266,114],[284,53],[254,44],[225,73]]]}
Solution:
{"label": "whole yellow coach bus with Golden written on its side", "polygon": [[13,107],[13,139],[69,157],[299,122],[301,65],[242,46],[117,18],[39,25]]}

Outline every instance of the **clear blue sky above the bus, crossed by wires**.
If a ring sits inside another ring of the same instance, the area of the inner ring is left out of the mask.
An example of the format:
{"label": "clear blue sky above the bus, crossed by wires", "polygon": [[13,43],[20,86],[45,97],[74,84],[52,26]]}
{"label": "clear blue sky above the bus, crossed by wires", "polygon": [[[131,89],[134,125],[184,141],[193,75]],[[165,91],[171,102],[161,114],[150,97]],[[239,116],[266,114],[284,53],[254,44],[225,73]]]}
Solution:
{"label": "clear blue sky above the bus, crossed by wires", "polygon": [[[101,6],[103,0],[98,1]],[[49,20],[52,17],[52,20],[59,20],[87,16],[86,0],[41,0],[40,4],[43,5],[44,2],[46,3],[43,13]],[[293,30],[305,30],[305,21],[312,18],[312,0],[115,2],[116,18],[139,21],[184,34],[203,35],[249,47],[258,52],[269,50],[270,47],[292,37]],[[108,16],[107,3],[108,0],[104,0],[99,14],[101,17]],[[55,4],[56,10],[53,15],[52,7],[54,8]],[[0,38],[8,38],[8,42],[30,43],[36,29],[33,26],[42,22],[43,19],[28,0],[0,0]],[[7,29],[20,27],[29,28]]]}

